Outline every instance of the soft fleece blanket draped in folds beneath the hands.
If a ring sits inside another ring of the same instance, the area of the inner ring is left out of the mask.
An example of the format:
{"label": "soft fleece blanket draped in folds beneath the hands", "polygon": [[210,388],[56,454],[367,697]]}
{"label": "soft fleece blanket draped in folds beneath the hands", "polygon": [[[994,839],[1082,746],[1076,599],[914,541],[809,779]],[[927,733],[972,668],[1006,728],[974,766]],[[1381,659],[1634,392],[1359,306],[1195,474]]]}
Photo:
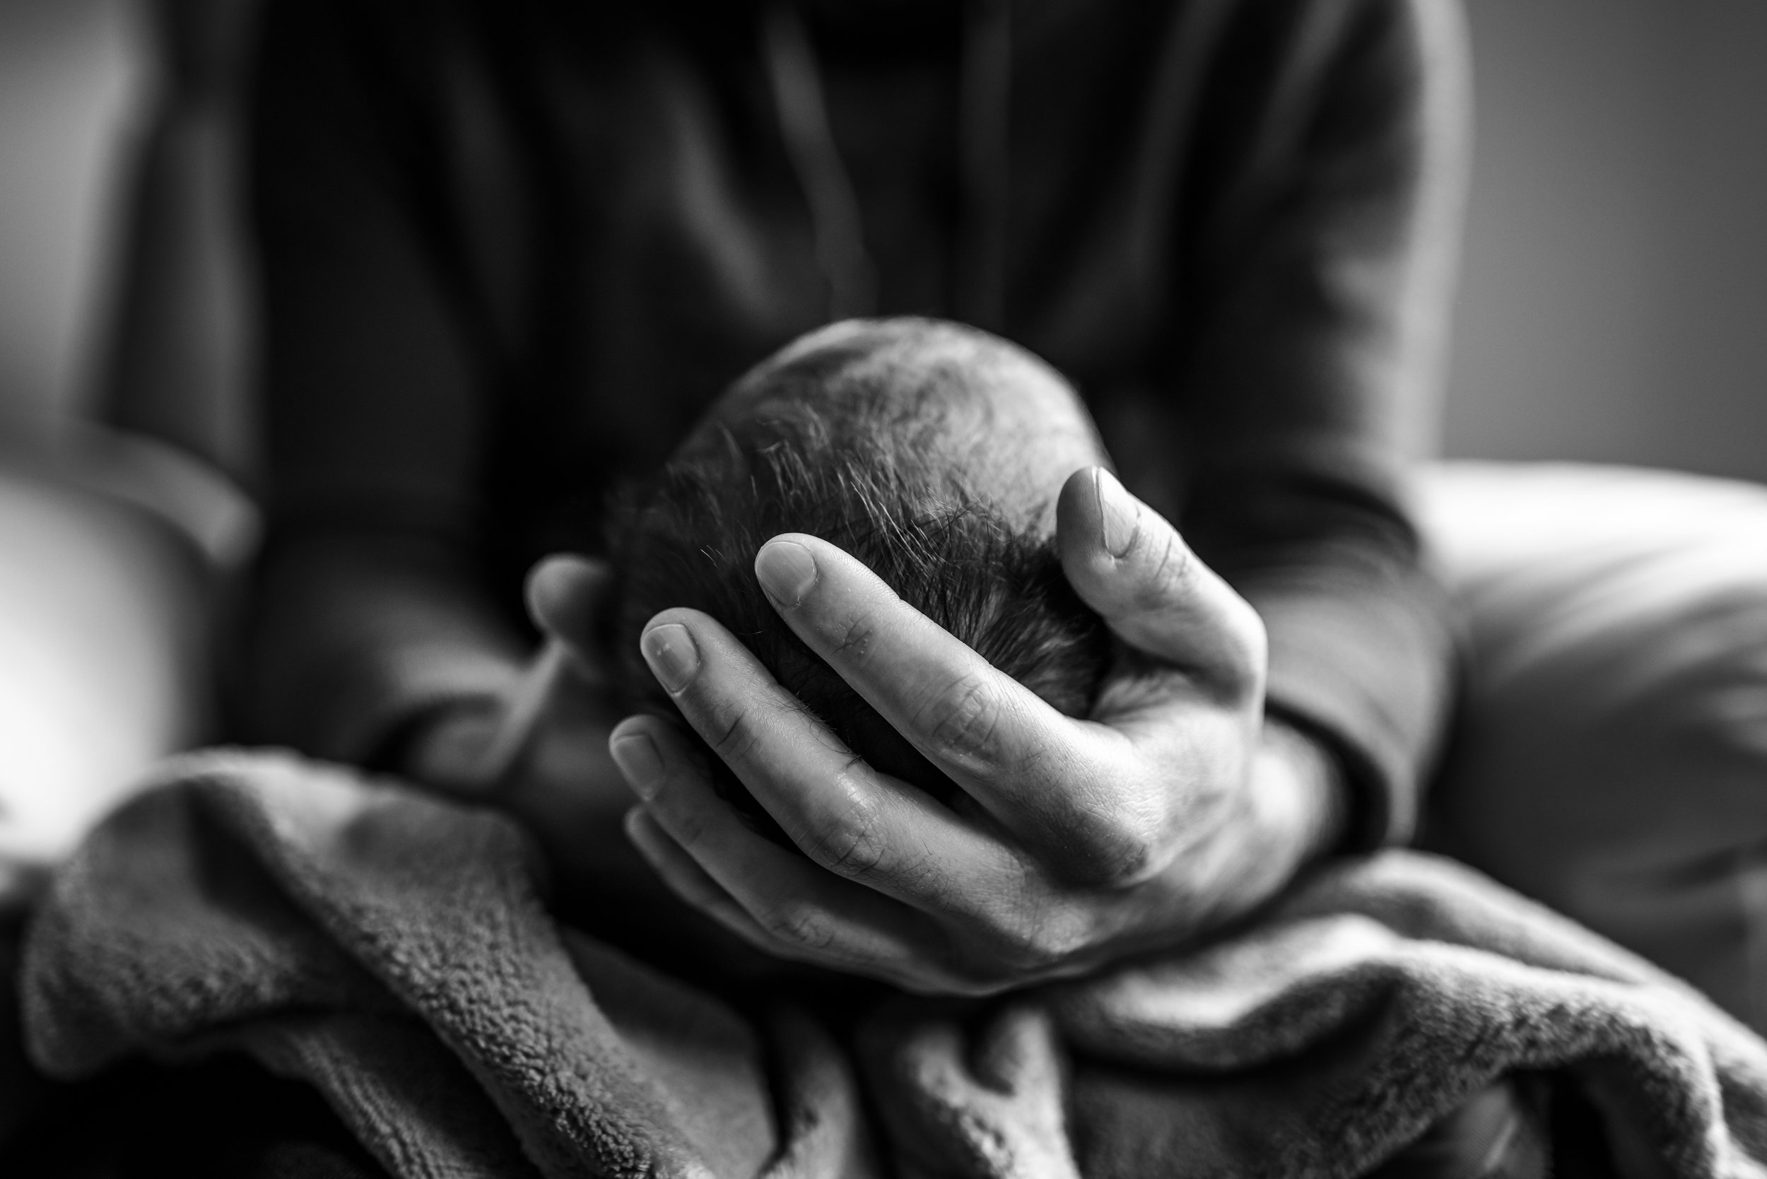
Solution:
{"label": "soft fleece blanket draped in folds beneath the hands", "polygon": [[57,1076],[244,1050],[410,1179],[1348,1177],[1505,1075],[1574,1091],[1626,1179],[1767,1160],[1767,1045],[1407,852],[1205,947],[988,1002],[896,997],[830,1031],[560,928],[495,813],[219,751],[58,873],[21,992]]}

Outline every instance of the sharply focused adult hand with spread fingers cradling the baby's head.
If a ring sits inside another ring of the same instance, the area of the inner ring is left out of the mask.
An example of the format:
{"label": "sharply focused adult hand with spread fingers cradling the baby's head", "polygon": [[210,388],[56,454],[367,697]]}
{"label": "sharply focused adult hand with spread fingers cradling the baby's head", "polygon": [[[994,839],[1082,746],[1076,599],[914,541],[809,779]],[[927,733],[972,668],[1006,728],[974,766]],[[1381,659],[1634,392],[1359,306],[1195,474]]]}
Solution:
{"label": "sharply focused adult hand with spread fingers cradling the baby's head", "polygon": [[861,562],[788,534],[756,555],[781,617],[961,790],[873,771],[723,626],[666,610],[645,659],[804,856],[755,834],[659,718],[611,749],[627,833],[684,900],[767,953],[908,990],[986,993],[1189,939],[1269,898],[1341,822],[1329,758],[1263,721],[1253,608],[1101,468],[1062,488],[1069,582],[1120,642],[1062,716]]}

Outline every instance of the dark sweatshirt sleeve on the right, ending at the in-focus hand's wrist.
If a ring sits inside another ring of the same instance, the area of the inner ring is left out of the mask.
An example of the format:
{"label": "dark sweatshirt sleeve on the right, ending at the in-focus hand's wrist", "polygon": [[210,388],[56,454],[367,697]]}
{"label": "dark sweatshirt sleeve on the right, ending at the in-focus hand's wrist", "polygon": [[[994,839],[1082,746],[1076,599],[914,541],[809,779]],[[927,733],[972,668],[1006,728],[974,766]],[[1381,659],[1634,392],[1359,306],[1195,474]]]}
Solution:
{"label": "dark sweatshirt sleeve on the right, ending at the in-focus hand's wrist", "polygon": [[1338,753],[1359,847],[1412,833],[1449,705],[1405,472],[1440,380],[1463,57],[1451,0],[1240,5],[1196,145],[1180,523],[1262,613],[1269,711]]}

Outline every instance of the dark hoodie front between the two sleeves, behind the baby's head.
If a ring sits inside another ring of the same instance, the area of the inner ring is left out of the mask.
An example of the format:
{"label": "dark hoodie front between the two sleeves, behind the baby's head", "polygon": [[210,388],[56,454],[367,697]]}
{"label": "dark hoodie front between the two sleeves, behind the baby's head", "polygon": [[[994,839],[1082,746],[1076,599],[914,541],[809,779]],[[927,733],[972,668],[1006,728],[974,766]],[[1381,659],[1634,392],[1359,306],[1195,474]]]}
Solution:
{"label": "dark hoodie front between the two sleeves, behind the baby's head", "polygon": [[[878,315],[974,318],[956,295],[974,232],[970,7],[818,0],[804,14]],[[1209,299],[1198,251],[1233,232],[1225,196],[1251,207],[1219,179],[1260,141],[1290,51],[1272,30],[1304,5],[1249,21],[1237,7],[1023,0],[1007,14],[1004,302],[986,325],[1074,378],[1115,449],[1157,440],[1166,467],[1182,437],[1170,387]],[[507,557],[594,544],[583,521],[610,488],[830,315],[765,14],[468,0],[399,19],[424,25],[406,88],[438,145],[405,180],[495,398],[493,516],[528,521]]]}

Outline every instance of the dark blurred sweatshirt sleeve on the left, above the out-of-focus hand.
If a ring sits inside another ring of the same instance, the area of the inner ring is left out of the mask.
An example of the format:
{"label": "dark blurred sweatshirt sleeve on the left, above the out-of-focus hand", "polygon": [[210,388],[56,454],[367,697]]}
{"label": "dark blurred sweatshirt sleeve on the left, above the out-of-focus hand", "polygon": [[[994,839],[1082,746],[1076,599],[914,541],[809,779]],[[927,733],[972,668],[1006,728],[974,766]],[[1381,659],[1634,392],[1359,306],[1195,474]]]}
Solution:
{"label": "dark blurred sweatshirt sleeve on the left, above the out-of-focus hand", "polygon": [[484,407],[447,285],[389,159],[375,5],[272,4],[253,110],[269,536],[240,723],[371,762],[482,700],[523,642],[481,592]]}

